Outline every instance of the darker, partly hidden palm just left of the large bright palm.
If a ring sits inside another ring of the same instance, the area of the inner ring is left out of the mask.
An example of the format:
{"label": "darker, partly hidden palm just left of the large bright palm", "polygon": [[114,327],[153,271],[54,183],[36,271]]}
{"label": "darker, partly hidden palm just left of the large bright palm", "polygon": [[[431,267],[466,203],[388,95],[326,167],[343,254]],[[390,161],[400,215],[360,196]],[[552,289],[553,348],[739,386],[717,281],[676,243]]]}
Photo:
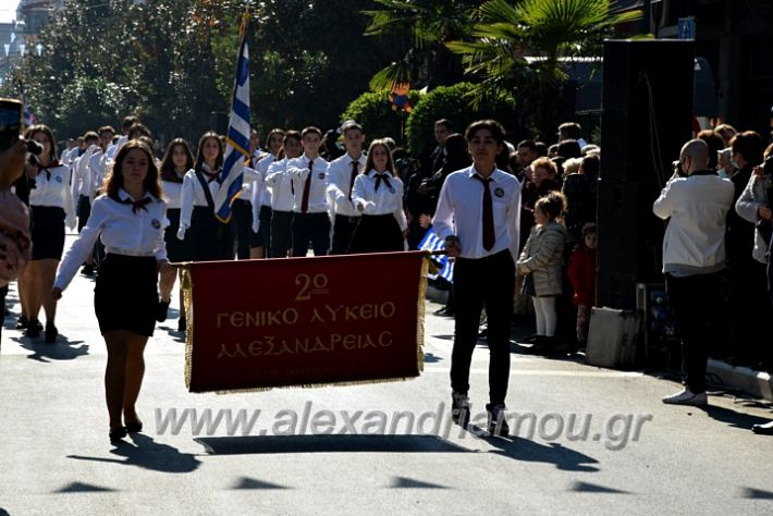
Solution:
{"label": "darker, partly hidden palm just left of the large bright palm", "polygon": [[[479,2],[470,0],[375,0],[382,8],[366,10],[370,17],[366,36],[396,36],[407,47],[402,60],[379,71],[370,88],[380,90],[394,83],[453,84],[462,79],[461,57],[443,45],[469,34],[470,16]],[[427,70],[424,73],[421,69]],[[428,75],[428,77],[421,77]]]}

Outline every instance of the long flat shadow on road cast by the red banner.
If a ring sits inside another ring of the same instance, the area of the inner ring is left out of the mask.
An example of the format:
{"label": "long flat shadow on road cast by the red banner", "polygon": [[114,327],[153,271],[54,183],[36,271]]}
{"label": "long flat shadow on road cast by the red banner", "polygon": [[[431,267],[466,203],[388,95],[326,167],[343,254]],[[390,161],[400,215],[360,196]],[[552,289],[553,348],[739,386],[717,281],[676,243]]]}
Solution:
{"label": "long flat shadow on road cast by the red banner", "polygon": [[435,435],[244,435],[196,438],[210,455],[273,453],[468,453]]}

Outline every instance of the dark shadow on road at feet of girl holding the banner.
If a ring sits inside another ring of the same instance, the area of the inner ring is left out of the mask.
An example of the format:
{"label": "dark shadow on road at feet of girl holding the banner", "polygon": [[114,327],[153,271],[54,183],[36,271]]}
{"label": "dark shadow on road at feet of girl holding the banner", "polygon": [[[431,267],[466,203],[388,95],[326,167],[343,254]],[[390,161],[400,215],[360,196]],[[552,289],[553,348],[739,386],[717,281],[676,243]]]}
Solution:
{"label": "dark shadow on road at feet of girl holding the banner", "polygon": [[113,463],[122,466],[136,466],[150,469],[152,471],[186,474],[198,469],[201,462],[189,453],[180,453],[177,449],[169,444],[160,444],[148,435],[142,433],[132,434],[133,443],[121,441],[110,453],[124,457],[87,457],[83,455],[68,455],[68,458],[76,460],[93,460],[97,463]]}

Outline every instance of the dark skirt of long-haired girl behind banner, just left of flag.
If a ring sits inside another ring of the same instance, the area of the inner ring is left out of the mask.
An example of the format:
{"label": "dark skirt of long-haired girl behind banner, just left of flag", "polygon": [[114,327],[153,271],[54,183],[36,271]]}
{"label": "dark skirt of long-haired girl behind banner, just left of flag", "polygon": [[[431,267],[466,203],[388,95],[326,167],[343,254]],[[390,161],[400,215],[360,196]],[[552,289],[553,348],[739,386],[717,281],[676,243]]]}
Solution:
{"label": "dark skirt of long-haired girl behind banner, just left of flag", "polygon": [[233,260],[235,230],[233,219],[223,224],[206,206],[195,206],[191,217],[193,261]]}

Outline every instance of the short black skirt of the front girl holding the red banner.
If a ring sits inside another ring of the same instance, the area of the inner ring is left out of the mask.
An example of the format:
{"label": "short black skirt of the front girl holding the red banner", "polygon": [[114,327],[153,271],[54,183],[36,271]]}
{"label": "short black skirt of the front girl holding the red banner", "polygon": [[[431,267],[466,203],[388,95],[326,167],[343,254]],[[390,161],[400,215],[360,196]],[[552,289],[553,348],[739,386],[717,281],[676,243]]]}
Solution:
{"label": "short black skirt of the front girl holding the red banner", "polygon": [[108,254],[99,265],[94,311],[102,335],[125,330],[152,336],[158,307],[156,258]]}

